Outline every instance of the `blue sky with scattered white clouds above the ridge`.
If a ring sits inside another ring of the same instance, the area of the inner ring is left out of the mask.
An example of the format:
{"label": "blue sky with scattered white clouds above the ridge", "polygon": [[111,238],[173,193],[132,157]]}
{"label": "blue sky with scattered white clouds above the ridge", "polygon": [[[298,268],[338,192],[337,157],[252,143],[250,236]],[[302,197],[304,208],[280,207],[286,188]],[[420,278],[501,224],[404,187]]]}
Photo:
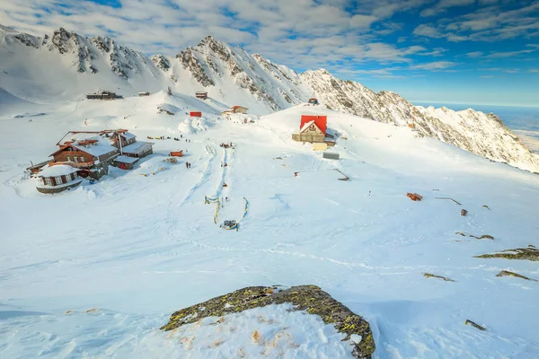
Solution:
{"label": "blue sky with scattered white clouds above the ridge", "polygon": [[539,1],[20,0],[0,23],[174,55],[210,34],[418,102],[539,106]]}

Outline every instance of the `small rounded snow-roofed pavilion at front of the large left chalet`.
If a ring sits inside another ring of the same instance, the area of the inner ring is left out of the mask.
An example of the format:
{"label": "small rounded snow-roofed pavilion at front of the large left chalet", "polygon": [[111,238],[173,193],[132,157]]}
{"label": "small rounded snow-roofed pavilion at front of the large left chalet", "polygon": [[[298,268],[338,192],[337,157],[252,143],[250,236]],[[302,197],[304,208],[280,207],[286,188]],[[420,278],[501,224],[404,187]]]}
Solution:
{"label": "small rounded snow-roofed pavilion at front of the large left chalet", "polygon": [[77,187],[83,179],[78,176],[77,169],[67,164],[45,166],[38,173],[36,188],[41,193],[58,193]]}

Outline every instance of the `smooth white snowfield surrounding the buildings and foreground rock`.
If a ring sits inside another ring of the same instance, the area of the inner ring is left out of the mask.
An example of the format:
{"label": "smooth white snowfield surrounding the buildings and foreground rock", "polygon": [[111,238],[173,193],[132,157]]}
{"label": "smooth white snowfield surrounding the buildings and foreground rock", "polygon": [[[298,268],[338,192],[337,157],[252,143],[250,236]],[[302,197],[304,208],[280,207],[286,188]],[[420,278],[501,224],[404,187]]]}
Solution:
{"label": "smooth white snowfield surrounding the buildings and foreground rock", "polygon": [[[0,357],[198,359],[241,357],[240,349],[245,357],[279,349],[346,357],[331,328],[283,308],[172,335],[157,329],[173,311],[243,286],[303,284],[365,316],[376,359],[539,356],[539,286],[496,276],[503,269],[539,279],[536,262],[473,258],[539,245],[539,176],[407,128],[306,105],[249,124],[209,109],[208,126],[184,113],[157,114],[162,103],[202,106],[188,101],[155,93],[67,104],[31,122],[0,115]],[[309,113],[328,116],[340,136],[331,149],[339,162],[290,139]],[[155,140],[155,153],[133,171],[111,169],[102,181],[53,196],[35,190],[23,173],[30,159],[43,160],[69,129],[103,127],[190,143]],[[180,163],[163,162],[180,149],[188,150]],[[335,169],[350,180],[338,180]],[[411,201],[409,191],[423,201]],[[249,200],[239,232],[213,222],[215,205],[204,197],[215,195],[230,198],[218,223],[241,218]],[[252,341],[253,330],[261,341]],[[282,330],[293,339],[272,346]]]}

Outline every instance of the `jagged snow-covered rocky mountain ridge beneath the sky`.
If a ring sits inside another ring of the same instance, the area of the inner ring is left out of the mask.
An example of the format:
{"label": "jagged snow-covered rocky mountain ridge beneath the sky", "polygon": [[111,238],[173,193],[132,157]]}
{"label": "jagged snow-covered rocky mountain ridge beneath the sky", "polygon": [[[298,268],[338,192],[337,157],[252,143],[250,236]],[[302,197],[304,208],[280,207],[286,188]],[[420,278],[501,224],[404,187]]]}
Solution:
{"label": "jagged snow-covered rocky mountain ridge beneath the sky", "polygon": [[494,114],[416,107],[396,93],[376,93],[323,69],[297,74],[209,36],[175,57],[146,57],[106,37],[90,39],[59,29],[41,38],[0,25],[0,57],[4,97],[73,101],[100,88],[129,96],[171,86],[185,95],[206,91],[214,101],[268,114],[314,95],[328,108],[395,126],[412,125],[420,136],[539,171],[539,159]]}

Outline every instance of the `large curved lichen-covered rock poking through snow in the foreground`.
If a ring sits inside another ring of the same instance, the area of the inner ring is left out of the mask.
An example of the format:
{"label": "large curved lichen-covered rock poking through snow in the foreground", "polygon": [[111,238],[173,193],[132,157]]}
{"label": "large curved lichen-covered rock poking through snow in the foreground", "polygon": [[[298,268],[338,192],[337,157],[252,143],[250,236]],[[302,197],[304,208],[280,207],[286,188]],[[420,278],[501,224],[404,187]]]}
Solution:
{"label": "large curved lichen-covered rock poking through snow in the foreground", "polygon": [[[234,312],[283,303],[292,303],[295,311],[306,311],[320,316],[324,323],[332,324],[340,333],[346,335],[343,340],[349,340],[353,346],[352,355],[356,358],[371,359],[376,346],[367,320],[354,314],[316,285],[297,285],[284,290],[276,286],[246,287],[175,311],[161,329],[173,330],[207,317],[222,317]],[[359,337],[360,340],[353,340]]]}

